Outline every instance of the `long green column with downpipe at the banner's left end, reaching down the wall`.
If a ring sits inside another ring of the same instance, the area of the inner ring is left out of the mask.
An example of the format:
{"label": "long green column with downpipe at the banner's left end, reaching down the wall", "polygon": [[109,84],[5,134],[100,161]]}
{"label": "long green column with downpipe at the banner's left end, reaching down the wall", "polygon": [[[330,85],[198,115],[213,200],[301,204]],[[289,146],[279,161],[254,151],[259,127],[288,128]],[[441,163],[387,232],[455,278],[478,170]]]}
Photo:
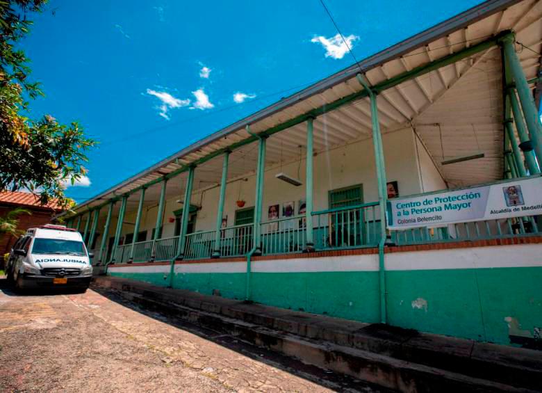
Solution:
{"label": "long green column with downpipe at the banner's left end, reaching down the wall", "polygon": [[384,147],[378,120],[377,95],[372,92],[369,81],[361,74],[356,75],[359,83],[370,97],[371,120],[372,120],[372,144],[375,148],[375,163],[377,168],[379,218],[380,218],[380,241],[378,245],[379,255],[379,294],[380,294],[380,321],[387,321],[386,306],[386,266],[384,264],[384,245],[386,244],[386,202],[388,193],[386,191],[386,167],[384,166]]}

